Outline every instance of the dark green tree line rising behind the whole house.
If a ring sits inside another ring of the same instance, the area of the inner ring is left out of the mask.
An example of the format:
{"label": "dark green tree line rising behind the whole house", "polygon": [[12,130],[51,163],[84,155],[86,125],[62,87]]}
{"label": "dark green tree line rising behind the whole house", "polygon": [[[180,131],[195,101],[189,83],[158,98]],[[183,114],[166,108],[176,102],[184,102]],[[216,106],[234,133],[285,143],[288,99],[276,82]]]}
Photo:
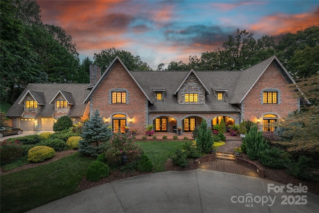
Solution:
{"label": "dark green tree line rising behind the whole house", "polygon": [[[89,83],[89,65],[102,71],[116,56],[129,70],[153,70],[139,55],[109,48],[95,53],[93,61],[82,62],[72,37],[62,27],[43,24],[40,6],[34,0],[1,3],[0,95],[13,103],[28,83]],[[236,35],[217,49],[189,56],[189,62],[171,61],[157,70],[244,70],[276,55],[295,79],[319,73],[319,24],[288,33],[276,44],[275,38],[237,29]]]}

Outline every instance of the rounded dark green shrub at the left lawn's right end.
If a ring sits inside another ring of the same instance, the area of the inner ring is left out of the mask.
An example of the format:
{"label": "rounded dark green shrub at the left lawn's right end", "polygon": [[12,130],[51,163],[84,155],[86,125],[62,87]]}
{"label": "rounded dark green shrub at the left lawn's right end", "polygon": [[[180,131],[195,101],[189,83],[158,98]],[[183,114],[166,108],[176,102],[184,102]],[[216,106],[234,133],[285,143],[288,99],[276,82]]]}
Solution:
{"label": "rounded dark green shrub at the left lawn's right end", "polygon": [[101,161],[93,161],[86,172],[86,179],[89,181],[99,181],[101,178],[108,177],[110,167]]}

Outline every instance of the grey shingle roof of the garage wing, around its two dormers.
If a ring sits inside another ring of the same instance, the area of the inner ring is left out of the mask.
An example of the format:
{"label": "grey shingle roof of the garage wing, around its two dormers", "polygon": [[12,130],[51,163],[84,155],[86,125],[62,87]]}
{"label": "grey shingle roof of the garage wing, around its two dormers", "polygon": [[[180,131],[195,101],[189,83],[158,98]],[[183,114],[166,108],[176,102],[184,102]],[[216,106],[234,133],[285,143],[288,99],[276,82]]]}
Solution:
{"label": "grey shingle roof of the garage wing, around its two dormers", "polygon": [[[90,84],[28,84],[12,107],[6,113],[8,117],[21,117],[23,115],[23,98],[28,91],[34,94],[43,93],[43,103],[37,117],[52,117],[54,114],[54,104],[49,104],[54,96],[61,90],[64,96],[68,96],[68,101],[74,103],[68,113],[70,117],[83,116],[86,105],[82,101],[89,93],[85,88]],[[41,92],[40,92],[41,91]],[[70,97],[70,95],[73,97]],[[36,100],[38,101],[38,99]],[[41,103],[42,103],[41,101]],[[20,104],[19,104],[20,103]]]}

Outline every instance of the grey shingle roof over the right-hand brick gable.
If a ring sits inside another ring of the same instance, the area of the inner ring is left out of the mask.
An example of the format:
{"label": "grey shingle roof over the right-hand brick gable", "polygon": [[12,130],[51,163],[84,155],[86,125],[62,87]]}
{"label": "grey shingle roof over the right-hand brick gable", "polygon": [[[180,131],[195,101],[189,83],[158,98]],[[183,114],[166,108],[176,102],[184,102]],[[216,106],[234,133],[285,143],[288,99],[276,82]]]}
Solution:
{"label": "grey shingle roof over the right-hand brick gable", "polygon": [[234,94],[232,95],[229,103],[241,103],[272,62],[279,67],[282,75],[289,84],[296,83],[282,63],[278,60],[278,58],[276,56],[272,56],[241,72],[239,78],[237,79]]}

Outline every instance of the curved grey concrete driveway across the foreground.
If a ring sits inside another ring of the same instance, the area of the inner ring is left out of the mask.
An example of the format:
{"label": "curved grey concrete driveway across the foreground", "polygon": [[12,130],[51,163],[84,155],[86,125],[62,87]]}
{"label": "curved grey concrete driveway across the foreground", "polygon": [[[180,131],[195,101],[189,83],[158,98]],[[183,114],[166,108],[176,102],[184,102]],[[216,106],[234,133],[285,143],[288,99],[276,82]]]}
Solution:
{"label": "curved grey concrete driveway across the foreground", "polygon": [[[282,192],[278,189],[283,189]],[[315,213],[319,196],[267,179],[168,171],[103,184],[28,213]],[[288,192],[287,192],[288,190]]]}

